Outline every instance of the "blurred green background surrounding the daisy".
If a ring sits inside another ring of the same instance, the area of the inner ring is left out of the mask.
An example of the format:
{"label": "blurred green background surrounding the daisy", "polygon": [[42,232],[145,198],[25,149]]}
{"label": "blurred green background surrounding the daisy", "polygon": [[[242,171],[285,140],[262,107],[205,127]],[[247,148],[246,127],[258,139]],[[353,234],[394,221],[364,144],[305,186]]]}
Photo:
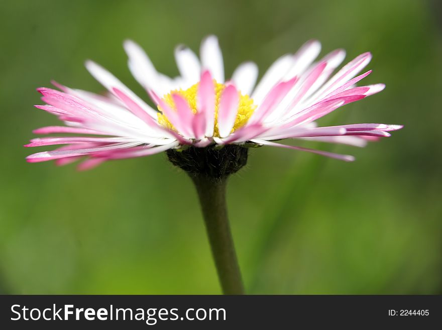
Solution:
{"label": "blurred green background surrounding the daisy", "polygon": [[[139,95],[122,42],[177,74],[173,48],[216,34],[226,73],[319,39],[322,53],[371,51],[375,96],[320,121],[404,124],[354,163],[252,150],[231,178],[230,218],[253,294],[442,293],[442,43],[437,2],[14,1],[0,14],[0,291],[29,294],[220,293],[196,194],[164,154],[74,165],[28,164],[22,146],[57,120],[33,104],[55,79],[101,92],[91,58]],[[146,98],[147,99],[147,98]],[[315,146],[305,144],[306,146]]]}

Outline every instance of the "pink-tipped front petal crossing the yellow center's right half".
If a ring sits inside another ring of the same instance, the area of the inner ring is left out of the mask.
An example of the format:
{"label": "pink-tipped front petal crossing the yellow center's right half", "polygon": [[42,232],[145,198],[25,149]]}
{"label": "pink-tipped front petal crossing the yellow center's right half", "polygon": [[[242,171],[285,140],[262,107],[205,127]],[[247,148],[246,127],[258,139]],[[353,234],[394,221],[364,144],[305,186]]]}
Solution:
{"label": "pink-tipped front petal crossing the yellow center's right half", "polygon": [[239,94],[234,85],[228,85],[221,94],[218,108],[218,132],[221,138],[227,137],[235,125],[238,114]]}

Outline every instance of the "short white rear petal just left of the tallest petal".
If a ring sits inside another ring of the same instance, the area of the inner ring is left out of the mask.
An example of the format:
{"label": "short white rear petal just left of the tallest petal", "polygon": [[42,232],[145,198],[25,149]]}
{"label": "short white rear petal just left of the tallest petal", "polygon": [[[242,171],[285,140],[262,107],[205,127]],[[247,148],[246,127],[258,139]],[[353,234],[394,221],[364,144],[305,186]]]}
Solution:
{"label": "short white rear petal just left of the tallest petal", "polygon": [[189,86],[198,82],[201,64],[194,52],[186,46],[179,45],[175,48],[175,61],[181,76]]}

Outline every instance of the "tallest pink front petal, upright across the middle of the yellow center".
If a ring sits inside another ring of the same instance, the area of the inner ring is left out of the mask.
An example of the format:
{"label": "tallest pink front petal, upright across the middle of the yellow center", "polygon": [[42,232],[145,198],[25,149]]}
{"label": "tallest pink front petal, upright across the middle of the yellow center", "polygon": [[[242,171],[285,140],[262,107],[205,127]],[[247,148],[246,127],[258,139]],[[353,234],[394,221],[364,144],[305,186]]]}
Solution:
{"label": "tallest pink front petal, upright across the middle of the yellow center", "polygon": [[210,138],[213,136],[215,122],[215,89],[212,76],[207,70],[201,74],[196,99],[197,111],[203,113],[205,117],[205,136]]}

